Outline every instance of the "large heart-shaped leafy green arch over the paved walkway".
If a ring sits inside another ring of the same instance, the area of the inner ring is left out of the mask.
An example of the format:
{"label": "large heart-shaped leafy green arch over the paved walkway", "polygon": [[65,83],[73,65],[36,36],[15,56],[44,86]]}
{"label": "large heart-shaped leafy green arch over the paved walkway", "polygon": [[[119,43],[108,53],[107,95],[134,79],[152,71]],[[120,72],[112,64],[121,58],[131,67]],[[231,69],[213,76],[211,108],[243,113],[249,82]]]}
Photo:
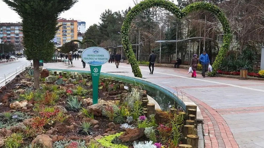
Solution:
{"label": "large heart-shaped leafy green arch over the paved walkway", "polygon": [[231,41],[231,29],[228,23],[227,18],[225,17],[225,14],[221,9],[214,4],[206,3],[206,2],[196,2],[188,5],[185,7],[182,11],[172,2],[165,1],[165,0],[145,0],[137,4],[135,7],[133,7],[128,14],[126,15],[126,18],[124,20],[124,23],[122,25],[122,44],[125,50],[125,54],[131,64],[132,72],[134,73],[135,77],[142,78],[141,71],[139,69],[139,66],[137,64],[135,54],[132,50],[131,43],[129,41],[129,30],[131,26],[132,20],[135,18],[135,16],[151,7],[162,7],[168,10],[169,12],[173,13],[177,18],[183,18],[186,17],[189,13],[197,11],[197,10],[207,10],[215,14],[215,16],[219,19],[219,21],[222,23],[223,30],[224,30],[224,36],[223,36],[223,44],[220,48],[220,51],[218,55],[216,56],[216,59],[214,61],[213,72],[209,73],[208,75],[215,75],[216,70],[219,68],[224,55],[226,54],[230,41]]}

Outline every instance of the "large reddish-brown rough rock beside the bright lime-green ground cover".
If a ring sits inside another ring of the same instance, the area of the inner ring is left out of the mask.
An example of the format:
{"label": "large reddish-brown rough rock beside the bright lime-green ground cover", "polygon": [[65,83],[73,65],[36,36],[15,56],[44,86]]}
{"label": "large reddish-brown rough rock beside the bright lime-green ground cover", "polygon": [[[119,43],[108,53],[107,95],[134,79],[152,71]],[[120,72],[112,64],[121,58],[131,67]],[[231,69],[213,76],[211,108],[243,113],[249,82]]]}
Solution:
{"label": "large reddish-brown rough rock beside the bright lime-green ground cover", "polygon": [[124,134],[122,134],[118,139],[120,139],[123,143],[136,141],[144,136],[144,130],[144,128],[126,129]]}

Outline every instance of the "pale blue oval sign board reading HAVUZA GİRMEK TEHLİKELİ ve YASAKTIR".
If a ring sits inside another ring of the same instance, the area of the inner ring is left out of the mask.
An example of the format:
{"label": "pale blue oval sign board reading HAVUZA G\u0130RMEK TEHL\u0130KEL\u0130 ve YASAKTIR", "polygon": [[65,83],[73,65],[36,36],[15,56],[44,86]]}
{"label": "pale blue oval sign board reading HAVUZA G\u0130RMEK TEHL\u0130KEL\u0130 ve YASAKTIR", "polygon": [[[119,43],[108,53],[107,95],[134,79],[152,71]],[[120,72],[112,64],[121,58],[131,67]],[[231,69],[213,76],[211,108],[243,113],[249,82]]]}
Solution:
{"label": "pale blue oval sign board reading HAVUZA G\u0130RMEK TEHL\u0130KEL\u0130 ve YASAKTIR", "polygon": [[103,65],[110,59],[110,54],[107,50],[101,47],[89,47],[82,52],[82,60],[93,66]]}

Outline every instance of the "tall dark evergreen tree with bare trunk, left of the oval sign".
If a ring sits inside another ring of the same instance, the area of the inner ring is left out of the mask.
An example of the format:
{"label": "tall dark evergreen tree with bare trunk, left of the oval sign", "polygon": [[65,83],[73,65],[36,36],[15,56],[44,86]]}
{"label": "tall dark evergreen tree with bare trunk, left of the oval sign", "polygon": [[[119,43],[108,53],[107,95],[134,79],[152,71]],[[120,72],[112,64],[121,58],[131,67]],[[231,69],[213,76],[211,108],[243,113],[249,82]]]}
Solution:
{"label": "tall dark evergreen tree with bare trunk, left of the oval sign", "polygon": [[23,45],[27,60],[33,60],[34,87],[39,88],[39,60],[49,61],[54,53],[50,42],[59,29],[57,19],[78,0],[3,0],[22,19]]}

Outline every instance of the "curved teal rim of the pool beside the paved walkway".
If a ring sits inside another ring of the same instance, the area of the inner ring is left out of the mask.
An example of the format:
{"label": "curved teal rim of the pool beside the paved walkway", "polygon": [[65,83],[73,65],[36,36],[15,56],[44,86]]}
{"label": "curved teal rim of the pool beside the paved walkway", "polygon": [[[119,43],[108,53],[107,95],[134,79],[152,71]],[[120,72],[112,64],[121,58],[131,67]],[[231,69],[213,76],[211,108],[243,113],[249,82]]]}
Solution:
{"label": "curved teal rim of the pool beside the paved walkway", "polygon": [[[88,73],[88,74],[91,74],[91,71],[89,71],[89,70],[54,69],[54,68],[46,68],[46,69],[49,70],[49,71],[63,71],[63,72],[76,72],[76,73]],[[184,102],[181,99],[179,99],[176,95],[171,93],[169,90],[163,88],[160,85],[151,83],[151,82],[143,80],[141,78],[135,78],[135,77],[132,78],[130,76],[124,76],[124,75],[119,75],[119,74],[101,72],[100,76],[110,76],[110,77],[112,76],[112,77],[117,77],[117,78],[120,78],[120,79],[126,79],[126,80],[129,80],[129,81],[135,81],[136,83],[141,83],[143,85],[148,85],[148,86],[150,86],[150,87],[152,87],[154,89],[162,91],[167,96],[173,98],[178,103],[178,105],[180,105],[182,107],[182,109],[186,111],[186,105],[184,104]]]}

